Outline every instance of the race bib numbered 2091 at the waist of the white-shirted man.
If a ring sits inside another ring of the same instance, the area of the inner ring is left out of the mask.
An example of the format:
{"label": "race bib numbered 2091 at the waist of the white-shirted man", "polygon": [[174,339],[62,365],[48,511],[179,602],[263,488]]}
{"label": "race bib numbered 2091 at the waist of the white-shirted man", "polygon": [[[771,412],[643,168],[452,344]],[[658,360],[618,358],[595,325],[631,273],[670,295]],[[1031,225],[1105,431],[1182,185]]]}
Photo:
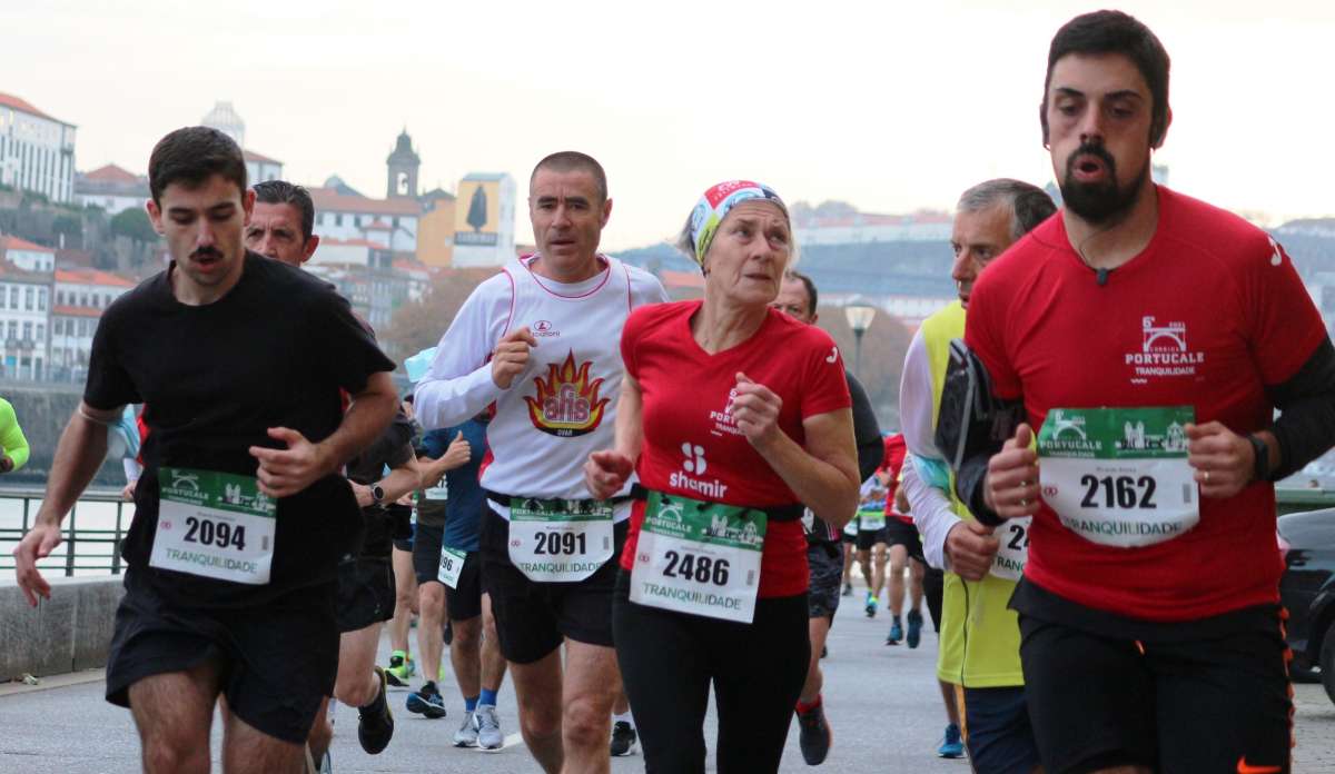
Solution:
{"label": "race bib numbered 2091 at the waist of the white-shirted man", "polygon": [[611,503],[510,499],[510,562],[530,580],[571,583],[611,558]]}

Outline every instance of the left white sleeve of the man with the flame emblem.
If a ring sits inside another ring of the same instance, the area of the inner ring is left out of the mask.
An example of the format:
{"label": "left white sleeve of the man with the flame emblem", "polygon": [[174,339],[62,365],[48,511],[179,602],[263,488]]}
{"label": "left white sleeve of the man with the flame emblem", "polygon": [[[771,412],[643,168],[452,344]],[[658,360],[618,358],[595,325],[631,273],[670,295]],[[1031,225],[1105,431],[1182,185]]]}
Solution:
{"label": "left white sleeve of the man with the flame emblem", "polygon": [[511,296],[509,276],[498,274],[463,302],[441,336],[430,370],[414,390],[414,407],[423,428],[461,424],[505,392],[493,378],[491,355],[507,332]]}

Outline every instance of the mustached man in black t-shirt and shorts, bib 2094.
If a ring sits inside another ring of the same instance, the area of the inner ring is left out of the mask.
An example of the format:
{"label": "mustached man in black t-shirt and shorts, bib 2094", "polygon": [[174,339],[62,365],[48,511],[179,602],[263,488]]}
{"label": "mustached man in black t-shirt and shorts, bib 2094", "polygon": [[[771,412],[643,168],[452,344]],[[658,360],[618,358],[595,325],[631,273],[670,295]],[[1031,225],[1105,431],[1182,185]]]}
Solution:
{"label": "mustached man in black t-shirt and shorts, bib 2094", "polygon": [[392,418],[394,363],[347,302],[244,250],[254,193],[226,135],[172,132],[148,173],[172,262],[101,318],[16,574],[29,603],[49,598],[36,562],[60,543],[107,427],[147,403],[107,698],[131,707],[147,771],[208,771],[219,695],[230,769],[294,771],[334,687],[336,566],[360,531],[338,471]]}

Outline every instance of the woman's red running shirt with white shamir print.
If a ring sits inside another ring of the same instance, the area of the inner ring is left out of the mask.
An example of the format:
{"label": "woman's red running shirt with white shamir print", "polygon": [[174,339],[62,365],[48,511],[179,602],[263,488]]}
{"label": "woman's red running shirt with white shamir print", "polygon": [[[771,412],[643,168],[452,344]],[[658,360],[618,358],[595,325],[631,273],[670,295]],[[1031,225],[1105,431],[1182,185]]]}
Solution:
{"label": "woman's red running shirt with white shamir print", "polygon": [[[805,444],[802,420],[852,406],[844,359],[829,335],[768,310],[746,342],[705,352],[690,335],[701,302],[637,308],[626,319],[621,355],[639,383],[643,444],[635,471],[651,490],[733,506],[797,503],[797,495],[733,423],[737,372],[769,387],[784,406],[778,426]],[[645,503],[630,516],[621,566],[630,570]],[[806,536],[800,520],[770,523],[761,554],[760,597],[806,591]]]}

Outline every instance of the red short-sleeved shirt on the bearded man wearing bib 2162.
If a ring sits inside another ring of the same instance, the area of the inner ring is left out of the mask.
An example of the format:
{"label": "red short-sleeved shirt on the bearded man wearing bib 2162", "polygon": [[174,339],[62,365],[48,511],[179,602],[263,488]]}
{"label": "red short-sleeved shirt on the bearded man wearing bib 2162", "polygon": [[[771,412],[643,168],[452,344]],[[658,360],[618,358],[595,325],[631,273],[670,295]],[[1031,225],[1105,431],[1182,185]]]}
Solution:
{"label": "red short-sleeved shirt on the bearded man wearing bib 2162", "polygon": [[[1238,434],[1270,424],[1264,388],[1326,338],[1284,251],[1243,219],[1164,187],[1140,255],[1100,287],[1051,218],[983,272],[965,339],[1037,431],[1057,407],[1193,406]],[[1140,548],[1100,546],[1043,506],[1025,576],[1087,607],[1191,621],[1279,601],[1275,490],[1202,499],[1200,523]]]}

